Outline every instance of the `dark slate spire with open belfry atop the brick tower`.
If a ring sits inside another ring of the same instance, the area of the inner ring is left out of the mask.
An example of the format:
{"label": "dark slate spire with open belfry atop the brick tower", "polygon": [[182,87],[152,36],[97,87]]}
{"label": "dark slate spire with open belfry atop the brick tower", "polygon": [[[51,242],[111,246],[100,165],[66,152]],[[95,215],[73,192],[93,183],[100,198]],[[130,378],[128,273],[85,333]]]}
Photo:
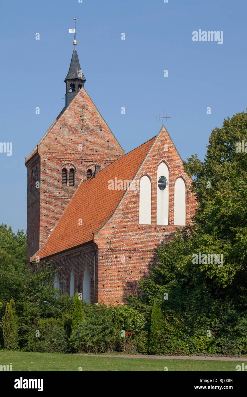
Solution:
{"label": "dark slate spire with open belfry atop the brick tower", "polygon": [[[77,42],[74,40],[73,44],[76,45]],[[75,98],[76,94],[84,87],[86,79],[80,68],[80,63],[77,55],[77,50],[74,48],[71,63],[69,66],[69,71],[65,77],[66,84],[66,94],[65,94],[65,107],[70,104],[70,102]]]}

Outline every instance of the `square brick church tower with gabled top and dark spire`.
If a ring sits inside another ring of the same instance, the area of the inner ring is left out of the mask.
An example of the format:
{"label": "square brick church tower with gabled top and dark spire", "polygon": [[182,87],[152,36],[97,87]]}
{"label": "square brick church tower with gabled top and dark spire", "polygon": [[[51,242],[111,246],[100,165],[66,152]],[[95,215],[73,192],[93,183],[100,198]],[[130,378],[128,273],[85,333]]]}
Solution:
{"label": "square brick church tower with gabled top and dark spire", "polygon": [[25,158],[27,262],[42,249],[81,181],[124,155],[84,88],[75,48],[64,82],[65,107]]}

